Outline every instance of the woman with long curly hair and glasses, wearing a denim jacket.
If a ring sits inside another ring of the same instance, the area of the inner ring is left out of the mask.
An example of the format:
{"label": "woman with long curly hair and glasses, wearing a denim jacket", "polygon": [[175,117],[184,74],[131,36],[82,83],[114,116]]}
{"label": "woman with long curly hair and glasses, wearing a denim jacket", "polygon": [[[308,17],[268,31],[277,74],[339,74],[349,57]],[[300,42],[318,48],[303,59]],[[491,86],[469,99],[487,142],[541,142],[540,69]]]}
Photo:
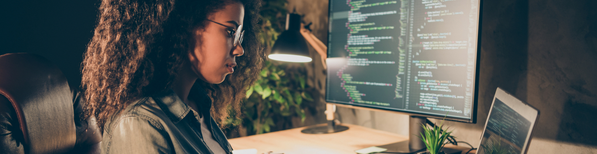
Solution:
{"label": "woman with long curly hair and glasses, wearing a denim jacket", "polygon": [[259,7],[102,1],[82,64],[85,111],[103,132],[102,153],[231,153],[217,122],[239,112],[261,69]]}

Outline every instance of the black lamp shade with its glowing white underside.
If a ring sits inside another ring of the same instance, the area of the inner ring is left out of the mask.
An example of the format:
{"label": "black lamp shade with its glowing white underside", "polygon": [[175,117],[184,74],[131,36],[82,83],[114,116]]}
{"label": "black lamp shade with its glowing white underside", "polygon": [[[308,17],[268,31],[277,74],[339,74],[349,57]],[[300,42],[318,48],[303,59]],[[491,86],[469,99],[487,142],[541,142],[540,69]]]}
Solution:
{"label": "black lamp shade with its glowing white underside", "polygon": [[307,42],[299,32],[300,15],[287,14],[286,30],[278,36],[273,43],[272,53],[267,56],[270,59],[288,62],[310,62]]}

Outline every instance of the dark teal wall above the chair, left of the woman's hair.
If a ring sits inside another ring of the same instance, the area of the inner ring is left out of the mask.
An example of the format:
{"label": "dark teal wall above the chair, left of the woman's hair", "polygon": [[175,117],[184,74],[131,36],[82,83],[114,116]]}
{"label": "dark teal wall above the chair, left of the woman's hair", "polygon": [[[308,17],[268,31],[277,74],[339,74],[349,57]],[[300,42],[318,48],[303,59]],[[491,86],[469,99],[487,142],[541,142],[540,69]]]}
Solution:
{"label": "dark teal wall above the chair, left of the woman's hair", "polygon": [[93,36],[99,1],[3,1],[0,55],[42,55],[60,67],[70,86],[81,84],[82,56]]}

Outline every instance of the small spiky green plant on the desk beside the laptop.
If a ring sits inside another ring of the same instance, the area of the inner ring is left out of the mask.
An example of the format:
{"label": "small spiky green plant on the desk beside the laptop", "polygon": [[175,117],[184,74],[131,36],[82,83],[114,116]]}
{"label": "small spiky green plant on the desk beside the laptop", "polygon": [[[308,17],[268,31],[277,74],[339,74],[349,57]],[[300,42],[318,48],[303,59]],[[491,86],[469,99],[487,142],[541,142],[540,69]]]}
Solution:
{"label": "small spiky green plant on the desk beside the laptop", "polygon": [[418,154],[443,154],[444,152],[442,152],[442,148],[444,148],[444,145],[446,144],[444,143],[445,140],[448,139],[448,137],[453,137],[450,135],[452,134],[452,131],[443,131],[444,120],[442,120],[441,124],[433,127],[426,124],[421,124],[421,127],[423,127],[424,132],[420,133],[421,136],[419,136],[419,138],[425,143],[427,151]]}

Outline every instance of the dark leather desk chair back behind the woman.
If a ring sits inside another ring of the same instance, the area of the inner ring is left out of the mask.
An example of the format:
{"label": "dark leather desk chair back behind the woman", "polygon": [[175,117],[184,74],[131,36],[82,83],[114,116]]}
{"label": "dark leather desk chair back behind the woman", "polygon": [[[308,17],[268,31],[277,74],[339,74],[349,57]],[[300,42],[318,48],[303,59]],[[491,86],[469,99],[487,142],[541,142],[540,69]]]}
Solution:
{"label": "dark leather desk chair back behind the woman", "polygon": [[94,121],[60,69],[33,54],[0,56],[0,153],[100,153]]}

